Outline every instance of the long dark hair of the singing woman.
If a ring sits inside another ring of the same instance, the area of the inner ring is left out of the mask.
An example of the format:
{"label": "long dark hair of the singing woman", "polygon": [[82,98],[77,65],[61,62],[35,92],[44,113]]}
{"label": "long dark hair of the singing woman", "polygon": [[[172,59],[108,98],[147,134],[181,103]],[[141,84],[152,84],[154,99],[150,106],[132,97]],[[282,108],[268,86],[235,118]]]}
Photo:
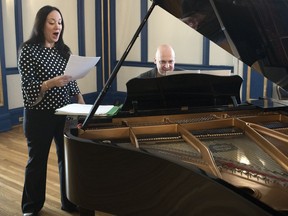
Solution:
{"label": "long dark hair of the singing woman", "polygon": [[55,43],[55,48],[59,50],[60,54],[64,58],[68,59],[71,54],[71,50],[64,43],[64,40],[63,40],[63,33],[64,33],[63,16],[62,16],[61,11],[58,8],[50,6],[50,5],[46,5],[40,8],[40,10],[37,12],[31,36],[26,42],[22,44],[22,46],[24,46],[25,44],[41,44],[44,46],[45,44],[44,26],[45,26],[48,14],[54,10],[56,10],[61,15],[61,18],[62,18],[62,31],[60,33],[58,41]]}

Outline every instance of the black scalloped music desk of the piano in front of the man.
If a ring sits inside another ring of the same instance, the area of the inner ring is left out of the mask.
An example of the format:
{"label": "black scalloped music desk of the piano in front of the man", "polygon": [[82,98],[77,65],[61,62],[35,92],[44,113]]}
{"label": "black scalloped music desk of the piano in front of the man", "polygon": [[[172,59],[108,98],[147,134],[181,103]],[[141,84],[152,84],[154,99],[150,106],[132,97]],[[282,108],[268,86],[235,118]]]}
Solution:
{"label": "black scalloped music desk of the piano in front of the man", "polygon": [[158,79],[133,78],[126,83],[127,96],[122,111],[237,106],[241,103],[242,81],[238,75],[177,72]]}

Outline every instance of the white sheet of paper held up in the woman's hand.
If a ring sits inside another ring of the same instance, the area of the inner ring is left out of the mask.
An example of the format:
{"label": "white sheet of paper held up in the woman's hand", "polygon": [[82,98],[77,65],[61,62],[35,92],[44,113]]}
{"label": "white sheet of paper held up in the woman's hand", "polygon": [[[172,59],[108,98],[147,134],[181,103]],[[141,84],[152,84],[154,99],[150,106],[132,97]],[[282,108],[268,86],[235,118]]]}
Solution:
{"label": "white sheet of paper held up in the woman's hand", "polygon": [[64,74],[72,76],[73,80],[86,76],[99,62],[100,57],[86,57],[71,55]]}

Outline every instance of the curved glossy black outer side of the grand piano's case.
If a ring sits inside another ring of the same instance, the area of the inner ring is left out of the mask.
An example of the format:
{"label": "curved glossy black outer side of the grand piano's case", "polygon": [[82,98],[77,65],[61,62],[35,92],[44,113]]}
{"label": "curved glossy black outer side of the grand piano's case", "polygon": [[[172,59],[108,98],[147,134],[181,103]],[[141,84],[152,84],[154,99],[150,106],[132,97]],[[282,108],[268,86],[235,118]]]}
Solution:
{"label": "curved glossy black outer side of the grand piano's case", "polygon": [[282,215],[193,165],[117,144],[67,134],[68,198],[91,215]]}

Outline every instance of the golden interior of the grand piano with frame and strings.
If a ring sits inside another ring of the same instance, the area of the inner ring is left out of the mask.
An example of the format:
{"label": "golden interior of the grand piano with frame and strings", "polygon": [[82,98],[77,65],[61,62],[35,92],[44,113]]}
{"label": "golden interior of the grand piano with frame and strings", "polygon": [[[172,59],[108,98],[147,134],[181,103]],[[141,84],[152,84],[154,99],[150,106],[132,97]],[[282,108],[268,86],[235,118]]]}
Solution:
{"label": "golden interior of the grand piano with frame and strings", "polygon": [[113,118],[111,123],[91,123],[76,134],[96,145],[134,149],[195,166],[279,212],[287,211],[285,113],[253,109]]}

